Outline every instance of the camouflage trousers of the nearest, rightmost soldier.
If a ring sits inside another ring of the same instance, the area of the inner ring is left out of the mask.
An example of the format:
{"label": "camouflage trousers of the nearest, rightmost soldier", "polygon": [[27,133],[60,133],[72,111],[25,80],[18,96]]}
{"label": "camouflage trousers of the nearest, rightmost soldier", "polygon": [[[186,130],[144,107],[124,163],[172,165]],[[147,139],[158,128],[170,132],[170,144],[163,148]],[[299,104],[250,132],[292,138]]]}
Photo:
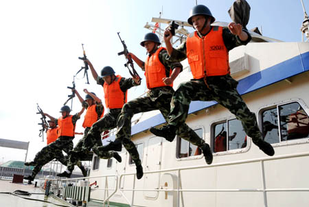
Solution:
{"label": "camouflage trousers of the nearest, rightmost soldier", "polygon": [[253,138],[253,142],[258,141],[262,138],[258,122],[255,114],[249,110],[236,90],[237,84],[238,82],[229,75],[216,77],[216,81],[209,82],[210,89],[203,80],[181,83],[172,97],[168,123],[184,125],[191,101],[217,101],[242,122],[244,132]]}

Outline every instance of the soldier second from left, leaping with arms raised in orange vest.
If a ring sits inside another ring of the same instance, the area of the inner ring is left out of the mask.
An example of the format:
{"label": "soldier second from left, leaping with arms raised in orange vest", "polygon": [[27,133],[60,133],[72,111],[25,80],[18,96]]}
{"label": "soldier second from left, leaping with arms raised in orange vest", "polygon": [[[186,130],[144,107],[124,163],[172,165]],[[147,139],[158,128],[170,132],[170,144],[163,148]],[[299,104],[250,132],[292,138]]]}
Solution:
{"label": "soldier second from left, leaping with arms raised in orange vest", "polygon": [[[54,143],[50,143],[46,147],[43,147],[43,149],[41,149],[41,151],[36,154],[34,161],[25,162],[26,166],[34,165],[35,167],[32,171],[32,175],[29,175],[23,179],[29,180],[31,182],[34,180],[36,174],[41,170],[41,168],[55,158],[59,160],[62,165],[67,165],[67,159],[64,158],[62,150],[69,154],[69,151],[73,149],[73,138],[76,121],[80,119],[80,115],[82,112],[84,112],[84,108],[82,108],[80,112],[73,116],[70,115],[71,110],[69,106],[62,106],[60,112],[62,117],[59,119],[55,119],[54,117],[49,116],[49,114],[44,113],[45,116],[49,117],[49,119],[54,121],[54,123],[58,124],[58,138],[56,141],[54,141]],[[87,175],[87,171],[84,169],[81,163],[78,165],[78,167],[80,167],[83,175]]]}

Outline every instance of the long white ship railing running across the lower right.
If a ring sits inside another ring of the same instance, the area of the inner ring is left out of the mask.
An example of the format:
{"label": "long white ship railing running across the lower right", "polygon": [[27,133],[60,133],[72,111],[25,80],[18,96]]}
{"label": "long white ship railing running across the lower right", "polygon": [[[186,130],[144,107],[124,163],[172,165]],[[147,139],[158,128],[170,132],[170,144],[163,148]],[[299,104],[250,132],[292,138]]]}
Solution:
{"label": "long white ship railing running across the lower right", "polygon": [[[198,165],[198,166],[192,166],[192,167],[180,167],[180,168],[172,168],[172,169],[162,169],[162,170],[157,170],[157,171],[145,171],[144,172],[144,176],[145,174],[151,174],[151,173],[165,173],[165,172],[176,172],[176,178],[177,178],[177,188],[173,189],[173,188],[163,188],[161,186],[161,188],[135,188],[135,174],[136,173],[124,173],[124,174],[120,174],[119,175],[119,191],[122,194],[122,196],[124,197],[124,199],[126,199],[126,202],[128,203],[128,205],[130,206],[134,206],[134,193],[136,191],[156,191],[156,192],[176,192],[177,193],[177,207],[180,206],[180,201],[181,201],[181,193],[182,192],[261,192],[263,193],[263,198],[264,198],[264,206],[268,206],[267,205],[267,196],[266,193],[267,192],[280,192],[280,191],[286,191],[286,192],[293,192],[293,191],[307,191],[309,192],[309,188],[266,188],[266,178],[265,178],[265,170],[264,170],[264,162],[265,161],[269,161],[269,160],[281,160],[281,159],[286,159],[286,158],[297,158],[297,157],[304,157],[304,156],[309,156],[309,152],[305,152],[305,153],[298,153],[298,154],[288,154],[288,155],[281,155],[281,156],[273,156],[273,157],[266,157],[266,158],[254,158],[254,159],[249,159],[249,160],[238,160],[238,161],[234,161],[234,162],[220,162],[218,164],[211,164],[211,165]],[[228,188],[228,189],[218,189],[218,188],[207,188],[207,189],[183,189],[181,188],[181,171],[188,171],[188,170],[194,170],[194,169],[206,169],[206,168],[214,168],[214,167],[222,167],[222,166],[229,166],[229,165],[240,165],[240,164],[246,164],[246,163],[252,163],[252,162],[260,162],[260,175],[262,178],[262,188]],[[133,188],[122,188],[121,184],[122,184],[122,179],[125,176],[132,176],[134,175],[134,180],[133,180]],[[124,191],[132,191],[132,199],[131,201],[128,199],[128,197],[126,197],[126,195],[124,195]]]}

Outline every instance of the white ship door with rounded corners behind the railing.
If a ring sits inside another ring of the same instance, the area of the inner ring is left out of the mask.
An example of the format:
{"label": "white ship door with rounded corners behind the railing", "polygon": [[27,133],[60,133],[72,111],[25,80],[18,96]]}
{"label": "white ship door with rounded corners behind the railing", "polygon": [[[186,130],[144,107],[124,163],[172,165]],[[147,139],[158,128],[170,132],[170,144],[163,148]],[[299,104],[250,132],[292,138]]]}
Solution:
{"label": "white ship door with rounded corners behind the railing", "polygon": [[[146,152],[146,165],[144,171],[157,171],[161,169],[162,156],[162,138],[152,137],[148,140]],[[144,188],[145,189],[159,189],[160,173],[146,173],[144,174]],[[144,196],[150,199],[155,199],[159,195],[159,191],[144,191]]]}

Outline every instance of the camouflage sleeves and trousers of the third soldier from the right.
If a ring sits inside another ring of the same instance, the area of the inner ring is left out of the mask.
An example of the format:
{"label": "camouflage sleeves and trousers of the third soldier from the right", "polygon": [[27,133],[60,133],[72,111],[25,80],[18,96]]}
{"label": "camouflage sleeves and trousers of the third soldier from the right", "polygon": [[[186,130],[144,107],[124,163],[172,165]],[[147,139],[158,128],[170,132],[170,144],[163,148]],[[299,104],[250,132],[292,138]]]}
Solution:
{"label": "camouflage sleeves and trousers of the third soldier from the right", "polygon": [[[103,86],[104,80],[102,77],[98,77],[97,84]],[[133,78],[124,78],[119,82],[120,89],[126,93],[129,88],[137,86]],[[84,139],[84,144],[82,145],[82,151],[87,152],[92,148],[93,152],[97,154],[100,158],[108,159],[113,157],[113,151],[102,151],[100,146],[102,146],[102,132],[106,130],[111,130],[117,126],[117,117],[121,112],[121,108],[110,109],[107,114],[104,115],[97,122],[93,123],[91,129],[89,130],[87,136]]]}

